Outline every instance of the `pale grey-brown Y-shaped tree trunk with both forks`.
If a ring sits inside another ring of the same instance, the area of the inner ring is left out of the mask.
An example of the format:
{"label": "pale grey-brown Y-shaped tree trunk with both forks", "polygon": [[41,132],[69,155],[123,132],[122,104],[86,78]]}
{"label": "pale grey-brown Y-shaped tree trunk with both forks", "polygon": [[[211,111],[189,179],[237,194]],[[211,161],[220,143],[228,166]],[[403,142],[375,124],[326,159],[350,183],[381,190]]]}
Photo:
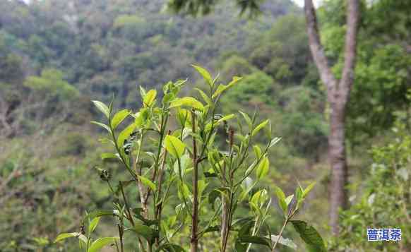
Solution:
{"label": "pale grey-brown Y-shaped tree trunk with both forks", "polygon": [[347,205],[347,157],[345,153],[345,109],[354,83],[357,32],[359,23],[359,0],[347,0],[347,31],[345,33],[344,68],[337,80],[328,66],[328,59],[321,44],[316,10],[312,0],[304,0],[309,47],[326,85],[327,100],[331,107],[330,135],[328,136],[328,157],[331,166],[330,181],[330,227],[338,236],[338,211]]}

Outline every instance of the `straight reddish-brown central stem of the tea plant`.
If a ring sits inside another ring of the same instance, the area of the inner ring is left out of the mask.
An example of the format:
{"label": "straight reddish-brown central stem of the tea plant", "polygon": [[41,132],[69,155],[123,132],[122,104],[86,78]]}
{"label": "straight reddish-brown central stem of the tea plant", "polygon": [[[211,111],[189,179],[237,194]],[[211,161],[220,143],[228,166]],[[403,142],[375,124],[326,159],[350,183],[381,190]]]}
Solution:
{"label": "straight reddish-brown central stem of the tea plant", "polygon": [[[196,133],[196,113],[191,111],[193,133]],[[198,225],[198,160],[197,143],[193,136],[193,215],[191,218],[191,252],[196,252],[198,248],[197,225]]]}

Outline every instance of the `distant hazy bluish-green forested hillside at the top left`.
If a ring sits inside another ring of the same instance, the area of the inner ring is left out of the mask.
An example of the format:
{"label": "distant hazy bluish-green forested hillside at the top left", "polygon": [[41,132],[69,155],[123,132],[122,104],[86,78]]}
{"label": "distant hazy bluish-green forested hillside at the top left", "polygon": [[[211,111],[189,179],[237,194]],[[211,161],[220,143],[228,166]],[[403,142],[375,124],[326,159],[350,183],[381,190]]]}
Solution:
{"label": "distant hazy bluish-green forested hillside at the top left", "polygon": [[84,95],[114,93],[131,104],[136,85],[186,78],[189,64],[211,66],[222,52],[243,49],[268,20],[296,9],[280,1],[250,22],[229,8],[197,20],[172,16],[161,0],[2,1],[1,46],[21,59],[25,76],[55,68]]}

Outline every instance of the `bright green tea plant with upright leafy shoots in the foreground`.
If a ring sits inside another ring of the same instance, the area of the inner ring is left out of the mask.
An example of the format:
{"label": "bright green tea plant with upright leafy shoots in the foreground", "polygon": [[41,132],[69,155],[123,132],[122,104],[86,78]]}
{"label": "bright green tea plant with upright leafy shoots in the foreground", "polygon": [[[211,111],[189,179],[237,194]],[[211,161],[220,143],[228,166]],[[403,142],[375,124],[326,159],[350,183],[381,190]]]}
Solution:
{"label": "bright green tea plant with upright leafy shoots in the foreground", "polygon": [[[102,159],[121,162],[129,180],[118,181],[114,187],[109,171],[97,168],[112,193],[114,209],[88,213],[80,232],[60,234],[56,241],[77,237],[86,252],[108,244],[123,252],[127,232],[136,237],[131,241],[133,251],[180,252],[190,247],[196,252],[206,250],[205,237],[216,232],[221,252],[250,251],[253,244],[275,251],[278,244],[296,248],[282,237],[286,225],[292,223],[309,249],[325,251],[316,230],[293,219],[314,184],[305,189],[297,186],[290,196],[271,186],[284,217],[280,233],[271,234],[266,223],[273,208],[269,190],[257,185],[269,172],[268,153],[280,138],[271,137],[270,121],[257,122],[256,114],[250,117],[239,112],[235,128],[229,121],[236,115],[218,114],[221,96],[241,78],[216,85],[218,77],[212,78],[200,66],[193,67],[208,84],[206,91],[196,89],[202,102],[178,96],[186,80],[164,85],[161,98],[156,90],[140,88],[143,103],[138,112],[123,109],[114,113],[113,102],[107,107],[93,101],[107,119],[106,124],[93,124],[107,131],[108,138],[102,142],[114,147],[114,152],[103,153]],[[130,119],[131,123],[119,130]],[[263,131],[268,140],[261,148],[254,142]],[[138,188],[138,200],[127,194],[126,188],[131,186]],[[240,217],[237,208],[244,203],[249,212]],[[92,233],[103,216],[114,217],[118,236],[93,240]],[[177,238],[186,229],[189,238]]]}

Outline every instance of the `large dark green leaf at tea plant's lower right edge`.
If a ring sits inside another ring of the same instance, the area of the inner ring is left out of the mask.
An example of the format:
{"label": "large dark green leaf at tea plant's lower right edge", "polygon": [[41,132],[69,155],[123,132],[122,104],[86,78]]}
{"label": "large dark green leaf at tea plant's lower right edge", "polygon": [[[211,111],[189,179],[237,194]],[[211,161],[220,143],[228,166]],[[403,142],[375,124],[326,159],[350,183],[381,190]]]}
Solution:
{"label": "large dark green leaf at tea plant's lower right edge", "polygon": [[302,220],[291,220],[294,229],[299,233],[302,240],[306,243],[307,251],[309,252],[326,252],[326,246],[320,234],[306,222]]}

